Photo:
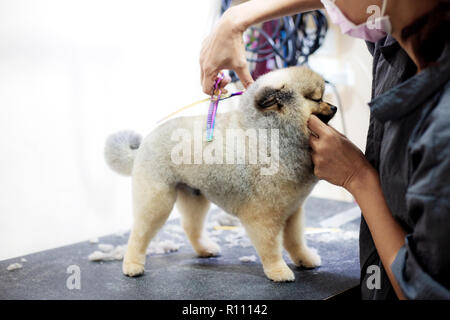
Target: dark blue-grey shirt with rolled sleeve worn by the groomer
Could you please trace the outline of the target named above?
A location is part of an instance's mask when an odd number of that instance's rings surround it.
[[[450,299],[450,45],[417,75],[392,37],[368,48],[374,61],[366,157],[408,234],[391,268],[407,298]],[[360,264],[363,299],[396,298],[363,218]],[[367,286],[371,265],[381,270],[380,289]]]

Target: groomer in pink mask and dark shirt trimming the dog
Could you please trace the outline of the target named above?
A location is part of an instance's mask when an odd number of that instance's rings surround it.
[[[370,6],[380,9],[375,20]],[[373,55],[365,155],[316,116],[309,119],[315,175],[347,189],[362,211],[361,297],[450,299],[450,0],[252,0],[231,7],[203,42],[203,91],[211,94],[222,69],[252,84],[242,37],[249,26],[323,7]],[[375,288],[367,285],[374,267],[381,270]]]

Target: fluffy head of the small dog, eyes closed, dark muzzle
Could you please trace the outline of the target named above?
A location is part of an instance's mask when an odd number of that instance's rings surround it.
[[[325,82],[306,67],[276,70],[260,77],[253,90],[253,106],[265,116],[274,116],[302,125],[311,114],[328,123],[337,108],[322,100]],[[300,124],[299,124],[300,125]]]

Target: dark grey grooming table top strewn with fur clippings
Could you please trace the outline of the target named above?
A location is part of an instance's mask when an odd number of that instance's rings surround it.
[[[305,270],[295,268],[286,252],[295,282],[274,283],[263,272],[259,257],[241,262],[242,256],[257,256],[253,246],[230,247],[223,230],[218,238],[221,255],[198,258],[186,236],[176,252],[147,256],[145,274],[129,278],[122,274],[122,261],[92,262],[88,255],[97,244],[88,241],[42,251],[20,258],[0,261],[0,299],[327,299],[353,291],[359,285],[359,214],[355,204],[310,197],[306,202],[309,246],[322,257],[322,266]],[[209,214],[209,222],[219,209]],[[178,224],[174,219],[167,224]],[[210,223],[211,225],[211,223]],[[99,243],[125,244],[128,234],[110,235]],[[171,239],[161,231],[157,239]],[[23,268],[7,271],[15,262]],[[81,289],[69,290],[67,268],[80,268]]]

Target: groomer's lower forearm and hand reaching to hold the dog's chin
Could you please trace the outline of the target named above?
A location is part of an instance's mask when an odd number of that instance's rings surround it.
[[[355,198],[369,226],[378,255],[389,280],[402,299],[404,295],[392,273],[391,264],[405,244],[406,232],[392,216],[375,169],[345,136],[316,116],[309,119],[314,174],[347,189]]]

